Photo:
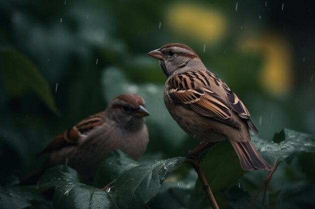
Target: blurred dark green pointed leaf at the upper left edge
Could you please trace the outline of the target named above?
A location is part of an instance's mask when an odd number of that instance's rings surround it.
[[[49,84],[29,58],[5,48],[0,49],[0,61],[9,95],[19,96],[31,89],[53,113],[59,115]]]

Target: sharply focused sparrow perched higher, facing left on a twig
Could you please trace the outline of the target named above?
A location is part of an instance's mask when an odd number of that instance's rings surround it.
[[[228,138],[245,170],[271,169],[251,143],[249,128],[258,130],[249,111],[191,48],[167,44],[148,55],[160,61],[168,77],[164,102],[183,130],[205,143]]]

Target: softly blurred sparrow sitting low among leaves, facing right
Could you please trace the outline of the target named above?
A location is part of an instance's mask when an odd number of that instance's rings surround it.
[[[148,132],[144,100],[136,94],[116,97],[104,112],[97,113],[65,130],[44,155],[53,165],[65,164],[80,173],[94,176],[104,156],[121,149],[138,159],[146,149]]]

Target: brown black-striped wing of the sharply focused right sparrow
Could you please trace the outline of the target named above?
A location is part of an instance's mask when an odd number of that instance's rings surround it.
[[[197,113],[224,122],[233,127],[243,125],[232,117],[236,112],[247,120],[249,128],[257,132],[250,113],[242,101],[213,73],[205,71],[185,72],[173,76],[168,90],[170,98]],[[211,90],[211,85],[222,85],[225,98]]]

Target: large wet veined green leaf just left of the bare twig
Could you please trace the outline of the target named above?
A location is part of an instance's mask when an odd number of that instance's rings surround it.
[[[125,171],[116,181],[114,192],[119,208],[141,208],[161,189],[162,182],[183,162],[184,157],[140,164]]]

